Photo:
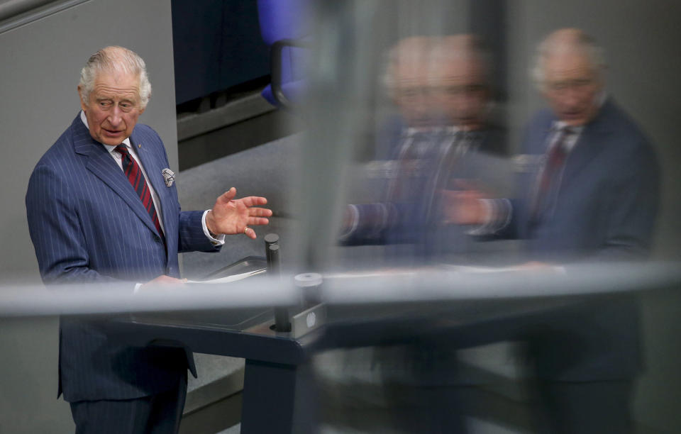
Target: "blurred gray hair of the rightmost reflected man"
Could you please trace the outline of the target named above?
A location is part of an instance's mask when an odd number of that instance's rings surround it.
[[[559,50],[578,50],[584,53],[601,78],[607,69],[604,50],[594,38],[578,29],[556,30],[537,45],[534,66],[530,73],[539,89],[543,89],[546,59]]]

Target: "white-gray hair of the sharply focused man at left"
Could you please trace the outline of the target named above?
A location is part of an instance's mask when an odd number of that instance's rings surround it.
[[[151,83],[147,76],[147,67],[142,57],[136,52],[116,45],[102,48],[87,60],[80,71],[79,86],[81,98],[87,104],[94,81],[100,72],[123,72],[137,75],[140,79],[140,105],[145,109],[151,96]]]

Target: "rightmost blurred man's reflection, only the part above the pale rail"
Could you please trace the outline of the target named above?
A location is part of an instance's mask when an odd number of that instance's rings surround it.
[[[539,45],[533,72],[550,110],[528,125],[519,199],[498,201],[497,235],[528,239],[531,260],[646,257],[658,166],[646,136],[606,94],[602,49],[581,30],[558,30]],[[490,223],[481,201],[455,205],[452,221]]]

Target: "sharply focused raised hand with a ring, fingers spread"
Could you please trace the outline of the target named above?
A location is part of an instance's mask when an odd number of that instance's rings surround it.
[[[260,205],[267,204],[267,199],[260,196],[234,199],[235,196],[236,189],[232,187],[218,197],[213,209],[206,215],[206,226],[215,234],[245,233],[249,238],[255,238],[255,230],[248,226],[270,223],[267,217],[272,216],[272,210],[260,208]]]

